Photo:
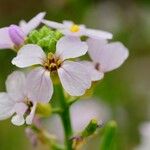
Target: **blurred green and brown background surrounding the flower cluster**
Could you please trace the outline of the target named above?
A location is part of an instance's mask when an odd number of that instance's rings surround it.
[[[73,20],[110,31],[128,47],[130,57],[98,83],[94,97],[118,123],[116,150],[132,150],[141,142],[139,127],[150,120],[150,1],[149,0],[0,0],[0,27],[29,20],[46,11],[47,19]],[[10,50],[0,51],[0,90],[15,68]],[[0,150],[31,149],[24,127],[0,122]],[[97,146],[92,147],[97,150]],[[145,149],[142,149],[145,150]]]

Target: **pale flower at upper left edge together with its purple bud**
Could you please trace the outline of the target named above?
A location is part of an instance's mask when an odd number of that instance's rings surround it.
[[[10,48],[15,49],[20,47],[26,36],[36,28],[42,21],[45,13],[39,13],[32,18],[28,23],[22,20],[18,25],[10,25],[0,29],[0,49]]]

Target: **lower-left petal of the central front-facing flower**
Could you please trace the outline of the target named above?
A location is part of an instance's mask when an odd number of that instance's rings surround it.
[[[27,90],[31,101],[48,103],[53,94],[50,73],[42,67],[32,70],[27,75]]]

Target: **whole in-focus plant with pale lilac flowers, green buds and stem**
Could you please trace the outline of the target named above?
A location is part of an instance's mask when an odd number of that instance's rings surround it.
[[[0,93],[0,120],[12,116],[14,125],[25,124],[27,133],[32,135],[30,138],[33,134],[41,135],[38,140],[42,138],[52,149],[77,149],[100,124],[91,118],[85,129],[75,136],[70,106],[85,96],[106,72],[120,67],[128,57],[128,50],[120,42],[109,42],[112,39],[109,32],[88,29],[70,21],[62,24],[48,21],[44,16],[45,13],[39,13],[29,22],[21,21],[19,26],[0,29],[0,48],[16,52],[13,65],[29,68],[8,76],[7,92]],[[45,25],[36,29],[41,23]],[[61,118],[64,145],[59,145],[41,127],[41,119],[53,113]],[[110,122],[107,126],[113,130],[116,124]],[[103,143],[107,143],[107,136],[106,129]]]

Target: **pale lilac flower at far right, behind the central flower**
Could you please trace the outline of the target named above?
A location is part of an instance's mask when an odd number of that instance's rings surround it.
[[[92,61],[83,61],[88,66],[92,81],[103,78],[104,73],[120,67],[127,59],[128,49],[120,42],[108,43],[107,40],[95,40],[89,38],[88,53]]]

